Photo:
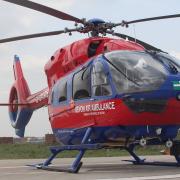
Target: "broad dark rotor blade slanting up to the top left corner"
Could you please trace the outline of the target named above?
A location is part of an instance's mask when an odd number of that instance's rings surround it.
[[[74,16],[71,16],[64,12],[58,11],[56,9],[53,9],[53,8],[50,8],[50,7],[47,7],[47,6],[32,2],[32,1],[28,1],[28,0],[3,0],[3,1],[17,4],[19,6],[23,6],[29,9],[33,9],[33,10],[57,17],[62,20],[74,21],[74,22],[82,23],[82,24],[84,23],[83,20],[78,19]]]

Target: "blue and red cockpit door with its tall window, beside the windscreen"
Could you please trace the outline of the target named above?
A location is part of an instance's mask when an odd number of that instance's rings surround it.
[[[115,111],[114,90],[106,65],[104,61],[95,61],[91,73],[92,116],[97,126],[109,126]]]

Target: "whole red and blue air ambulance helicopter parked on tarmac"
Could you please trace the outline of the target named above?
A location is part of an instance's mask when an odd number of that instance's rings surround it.
[[[4,0],[50,16],[75,22],[74,28],[0,39],[0,43],[73,32],[90,37],[58,49],[45,65],[48,87],[31,94],[20,58],[14,56],[14,79],[9,95],[10,122],[16,135],[24,137],[33,112],[48,107],[52,131],[60,146],[52,155],[32,165],[42,170],[77,173],[87,150],[124,149],[134,164],[180,166],[180,61],[163,50],[114,28],[180,14],[120,23],[94,18],[79,19],[50,7],[24,0]],[[113,35],[118,38],[107,37]],[[122,144],[123,139],[123,144]],[[146,162],[136,146],[165,145],[176,163]],[[62,151],[77,150],[69,168],[49,166]]]

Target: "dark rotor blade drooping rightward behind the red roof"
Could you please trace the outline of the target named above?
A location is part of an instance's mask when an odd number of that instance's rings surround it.
[[[108,32],[109,33],[109,32]],[[133,42],[136,42],[140,45],[142,45],[146,50],[152,50],[152,51],[162,51],[161,49],[158,49],[148,43],[145,43],[139,39],[136,39],[136,38],[133,38],[131,36],[128,36],[128,35],[125,35],[125,34],[120,34],[120,33],[109,33],[109,34],[112,34],[114,36],[117,36],[117,37],[120,37],[120,38],[123,38],[123,39],[127,39],[130,40],[130,41],[133,41]]]

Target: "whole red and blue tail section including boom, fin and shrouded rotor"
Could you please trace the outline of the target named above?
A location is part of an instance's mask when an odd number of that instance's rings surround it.
[[[20,59],[14,57],[15,82],[10,90],[9,103],[0,106],[9,106],[9,117],[15,133],[24,137],[25,127],[29,123],[33,111],[48,105],[49,89],[45,88],[35,94],[31,94],[28,84],[24,78]]]

